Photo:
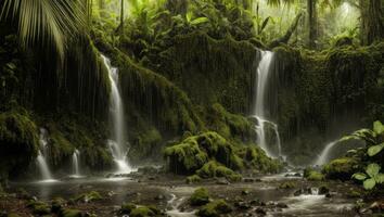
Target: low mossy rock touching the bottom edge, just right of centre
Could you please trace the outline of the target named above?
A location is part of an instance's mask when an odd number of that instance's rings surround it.
[[[232,207],[223,200],[217,200],[201,207],[197,212],[197,216],[201,217],[219,217],[223,214],[232,212]]]

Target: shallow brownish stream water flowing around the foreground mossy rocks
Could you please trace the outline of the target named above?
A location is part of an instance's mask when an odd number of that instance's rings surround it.
[[[318,194],[319,184],[308,182],[300,177],[279,174],[257,177],[254,182],[222,184],[215,180],[201,184],[185,184],[181,177],[144,176],[138,178],[78,178],[56,182],[13,182],[11,188],[25,189],[42,201],[54,197],[69,200],[80,193],[98,191],[103,200],[93,207],[100,216],[116,212],[125,202],[143,205],[156,205],[168,216],[195,216],[195,207],[188,205],[188,199],[200,187],[208,189],[214,199],[225,199],[229,204],[261,202],[266,216],[355,216],[354,199],[343,194],[353,186],[342,182],[329,182],[331,197]],[[284,182],[295,183],[292,189],[279,189]],[[296,195],[298,189],[311,189],[311,192]],[[246,190],[246,194],[244,194]],[[89,205],[84,204],[85,209]],[[239,216],[256,214],[256,207],[236,207]],[[77,207],[81,209],[80,207]],[[92,209],[92,210],[93,210]],[[238,213],[238,212],[236,212]],[[238,215],[235,215],[238,216]]]

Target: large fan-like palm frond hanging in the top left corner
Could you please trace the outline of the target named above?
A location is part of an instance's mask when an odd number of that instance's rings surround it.
[[[86,26],[80,8],[66,0],[3,0],[0,18],[17,21],[22,46],[52,46],[63,59],[67,39]]]

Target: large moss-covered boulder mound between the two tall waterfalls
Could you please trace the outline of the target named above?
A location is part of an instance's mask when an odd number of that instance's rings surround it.
[[[181,143],[166,148],[164,155],[168,169],[175,174],[196,173],[201,178],[226,177],[231,181],[242,179],[233,170],[253,168],[260,173],[277,173],[282,167],[259,148],[232,144],[214,131],[188,137]]]

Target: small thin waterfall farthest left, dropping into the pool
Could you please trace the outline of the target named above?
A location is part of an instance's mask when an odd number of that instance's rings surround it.
[[[39,135],[39,144],[40,150],[37,155],[37,166],[40,170],[42,181],[53,181],[51,171],[48,167],[46,157],[48,156],[48,139],[47,139],[47,130],[44,128],[40,128]],[[41,152],[42,151],[42,152]]]

